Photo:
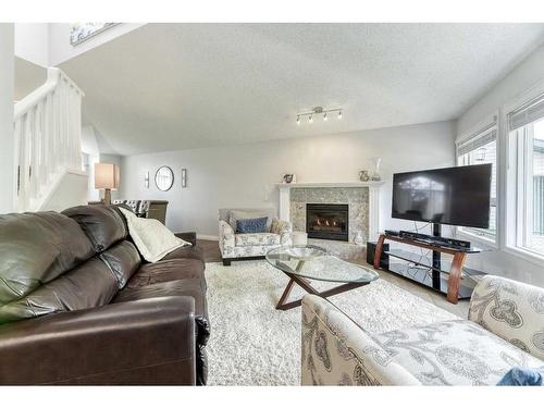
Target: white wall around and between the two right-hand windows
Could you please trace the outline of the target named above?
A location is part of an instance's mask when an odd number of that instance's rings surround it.
[[[500,83],[482,97],[472,108],[457,121],[457,133],[469,132],[478,126],[485,118],[517,99],[520,95],[532,88],[535,84],[544,81],[544,46],[529,55],[516,69],[514,69]],[[504,128],[504,127],[502,127]],[[500,147],[503,148],[502,163],[499,169],[499,197],[504,194],[505,180],[505,140],[506,135],[502,131],[499,135]],[[504,199],[504,196],[503,196]],[[499,201],[499,223],[504,225],[504,207]],[[499,224],[500,226],[500,224]],[[504,238],[502,239],[504,243]],[[544,286],[544,264],[539,261],[528,261],[516,255],[507,254],[504,250],[493,249],[481,245],[489,251],[478,256],[468,257],[468,265],[487,273],[508,276],[515,280],[533,283]]]

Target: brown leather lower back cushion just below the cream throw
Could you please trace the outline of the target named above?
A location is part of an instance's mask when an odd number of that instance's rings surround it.
[[[139,254],[133,243],[123,240],[100,254],[100,259],[106,262],[122,289],[141,263]]]

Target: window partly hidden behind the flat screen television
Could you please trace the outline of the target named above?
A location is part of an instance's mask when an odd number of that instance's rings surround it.
[[[497,236],[497,124],[493,123],[482,129],[461,138],[457,143],[457,165],[492,164],[490,227],[461,227],[460,231],[474,234],[487,240],[496,242]]]

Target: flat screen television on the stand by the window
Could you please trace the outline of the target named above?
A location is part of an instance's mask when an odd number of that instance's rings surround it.
[[[394,174],[392,217],[487,228],[491,168],[477,164]]]

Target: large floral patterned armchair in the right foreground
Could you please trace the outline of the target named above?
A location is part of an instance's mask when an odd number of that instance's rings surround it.
[[[370,334],[327,300],[302,300],[306,385],[494,385],[544,366],[544,289],[485,276],[469,320]]]

